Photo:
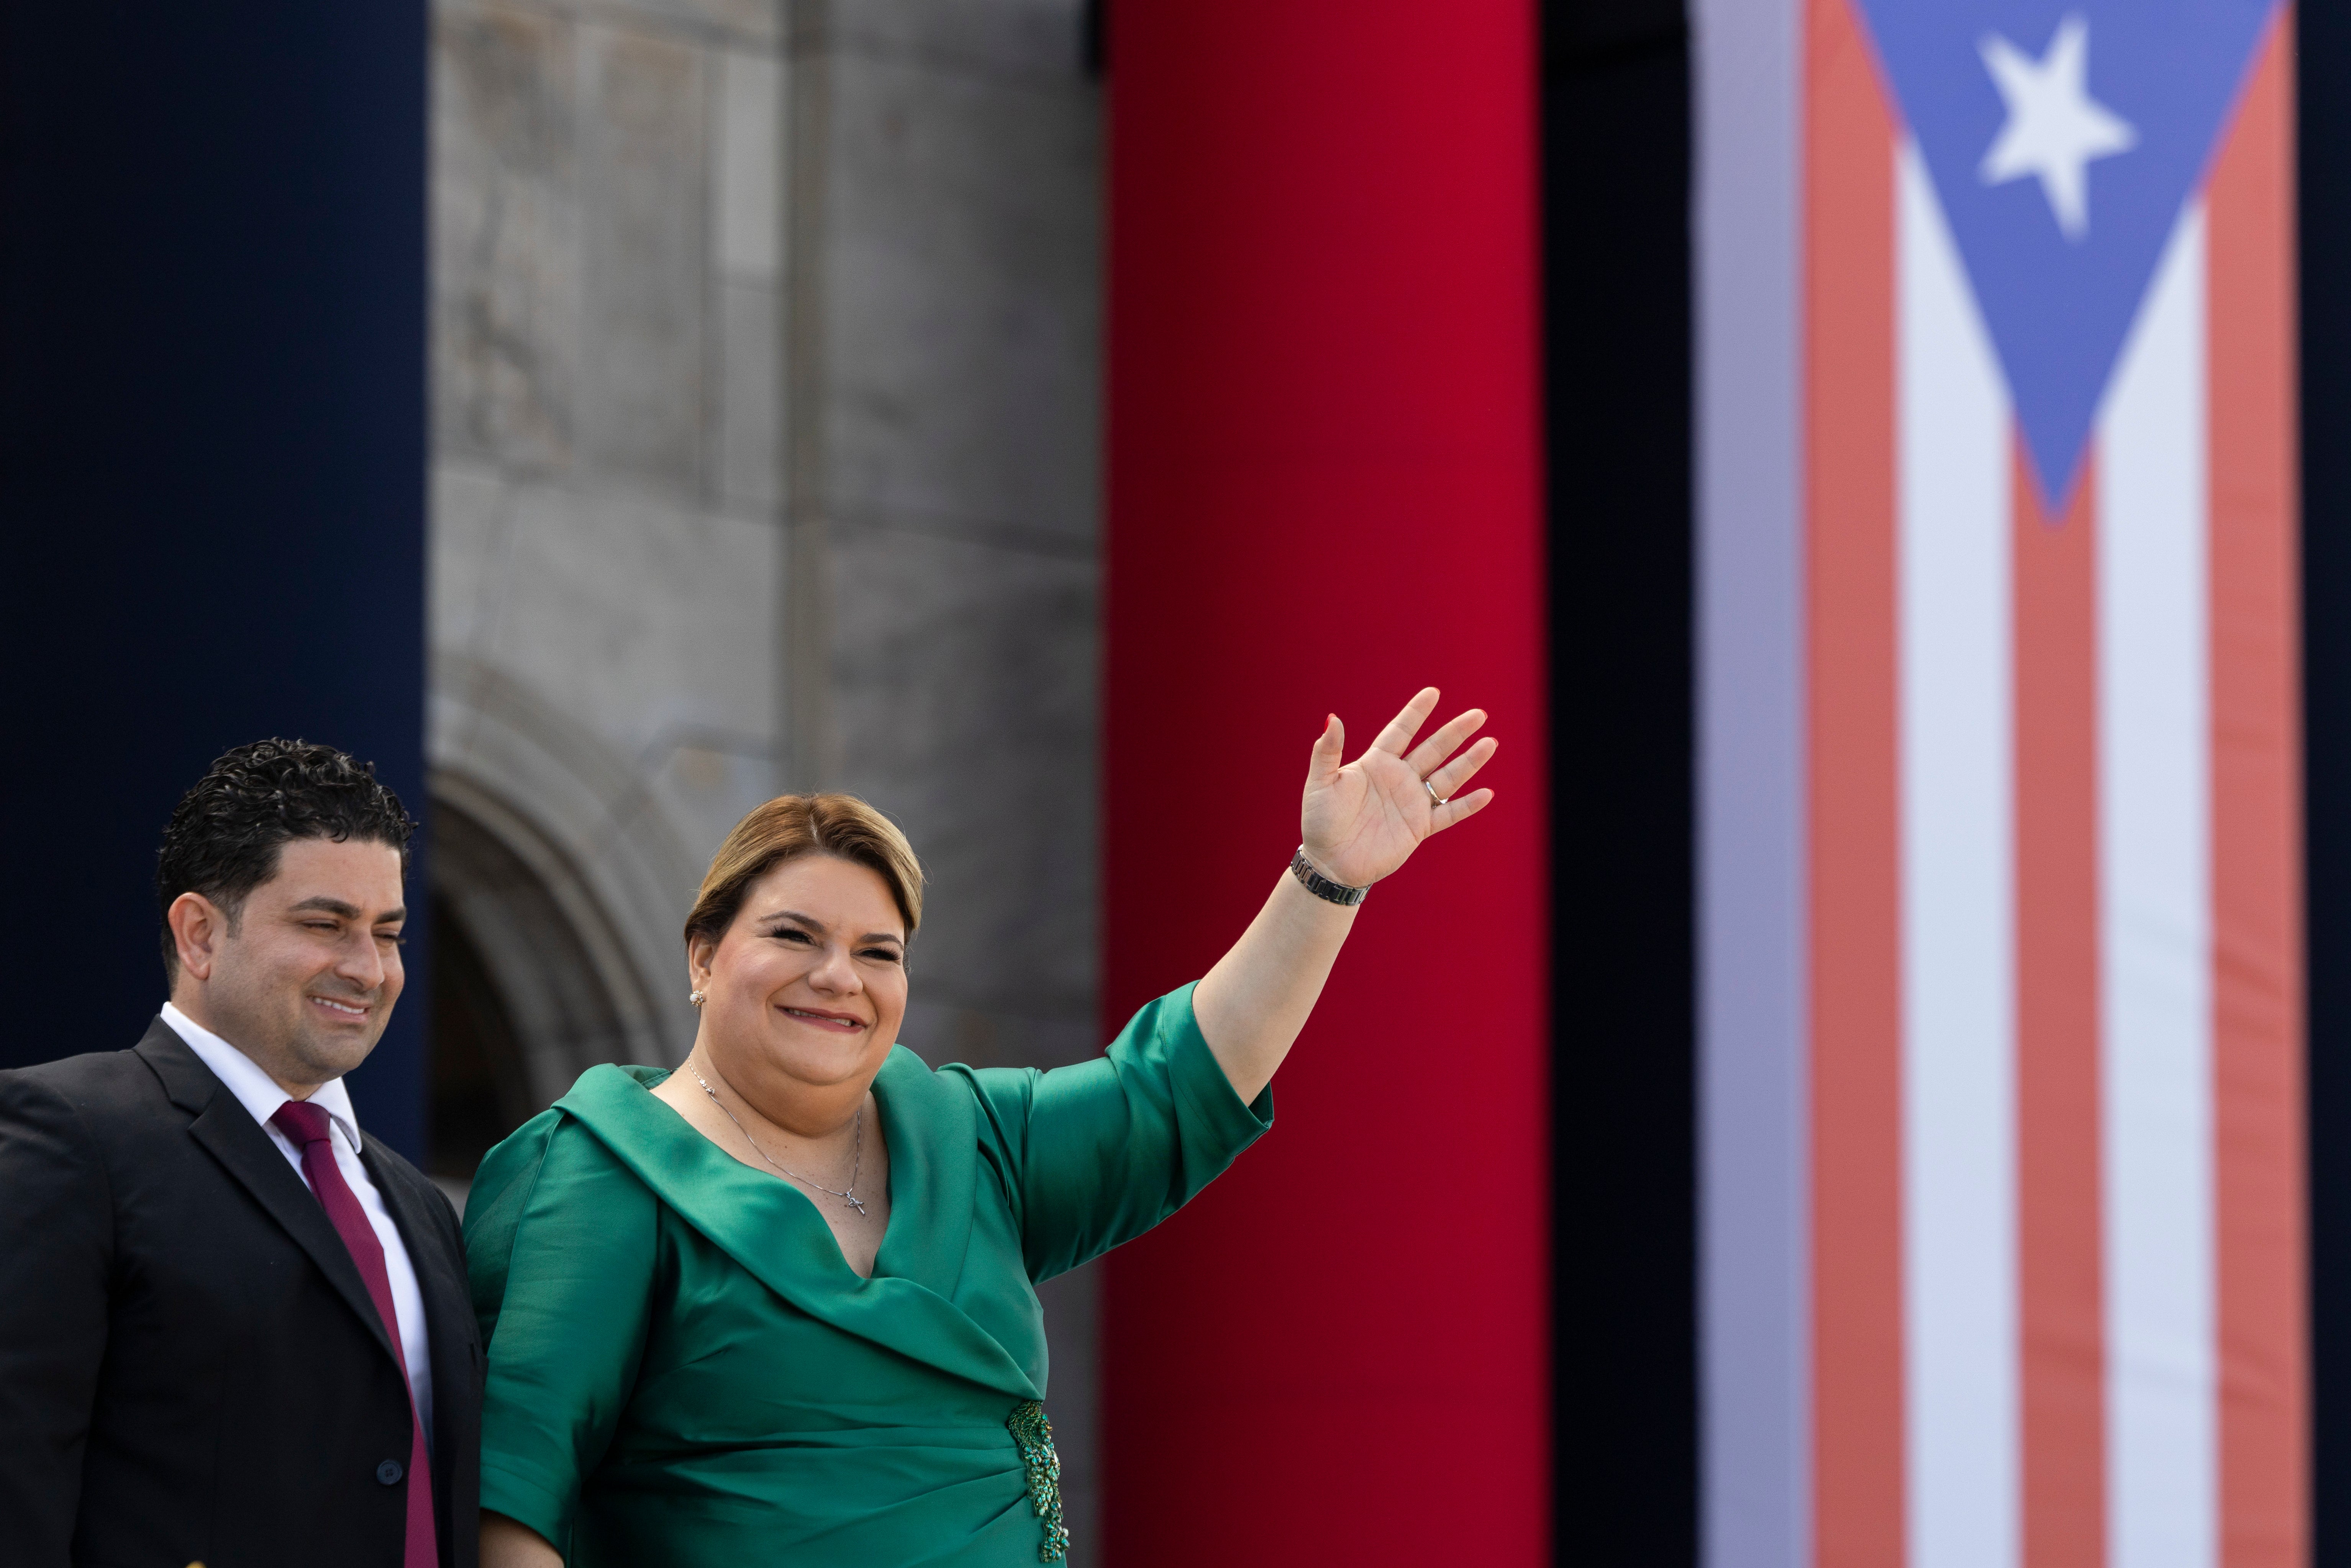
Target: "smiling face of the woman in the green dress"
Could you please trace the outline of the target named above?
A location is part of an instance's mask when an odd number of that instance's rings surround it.
[[[771,867],[686,954],[701,1046],[762,1114],[863,1095],[905,1018],[905,917],[882,877],[813,853]],[[809,1107],[813,1110],[813,1105]]]

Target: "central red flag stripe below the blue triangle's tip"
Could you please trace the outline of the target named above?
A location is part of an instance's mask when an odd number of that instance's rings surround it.
[[[2024,1568],[2106,1561],[2097,468],[2050,520],[2015,447],[2017,1331]]]

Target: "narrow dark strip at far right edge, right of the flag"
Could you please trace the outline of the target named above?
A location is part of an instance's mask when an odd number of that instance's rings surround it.
[[[2316,1552],[2351,1563],[2351,14],[2299,5]]]

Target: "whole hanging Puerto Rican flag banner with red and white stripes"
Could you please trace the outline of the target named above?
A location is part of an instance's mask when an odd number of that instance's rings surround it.
[[[2292,16],[1697,35],[1707,1561],[2306,1563]]]

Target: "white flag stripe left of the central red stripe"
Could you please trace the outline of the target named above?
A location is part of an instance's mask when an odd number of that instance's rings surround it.
[[[1918,150],[1895,219],[1909,1568],[2017,1561],[2010,416]]]

